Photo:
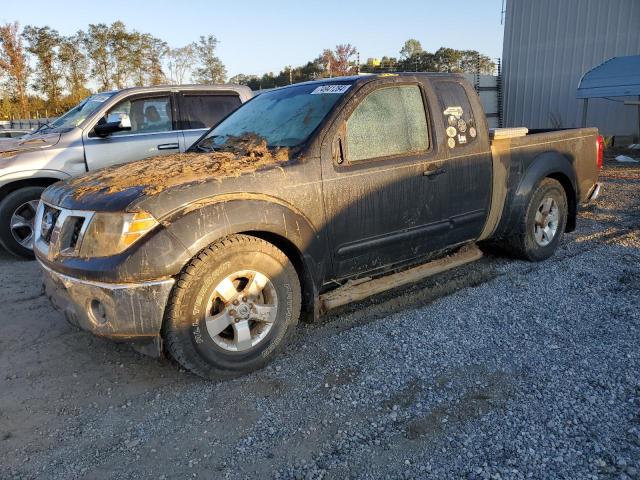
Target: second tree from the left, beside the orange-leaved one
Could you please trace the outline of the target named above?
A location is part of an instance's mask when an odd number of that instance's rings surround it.
[[[32,25],[24,27],[22,36],[27,41],[27,51],[37,60],[33,88],[45,96],[49,107],[55,108],[61,91],[58,49],[62,38],[56,30]]]

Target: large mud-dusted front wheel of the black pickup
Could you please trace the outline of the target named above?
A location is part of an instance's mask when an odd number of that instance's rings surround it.
[[[180,274],[165,314],[166,349],[201,377],[243,375],[282,349],[300,305],[300,281],[287,256],[265,240],[232,235],[204,249]]]

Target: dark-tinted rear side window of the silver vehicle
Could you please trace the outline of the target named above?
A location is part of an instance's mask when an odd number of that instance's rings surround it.
[[[237,95],[182,95],[182,128],[211,128],[240,106]]]

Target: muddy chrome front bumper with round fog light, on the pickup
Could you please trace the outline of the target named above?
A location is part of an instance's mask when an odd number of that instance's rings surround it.
[[[102,283],[55,272],[40,262],[44,288],[69,323],[115,340],[157,340],[175,280]]]

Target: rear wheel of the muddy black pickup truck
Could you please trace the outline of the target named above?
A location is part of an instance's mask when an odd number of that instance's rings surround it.
[[[557,209],[555,216],[554,208]],[[543,179],[529,199],[517,233],[507,239],[507,250],[531,262],[549,258],[555,253],[564,235],[567,212],[567,196],[560,182],[552,178]]]

